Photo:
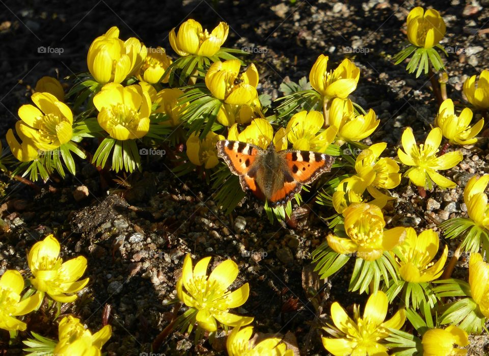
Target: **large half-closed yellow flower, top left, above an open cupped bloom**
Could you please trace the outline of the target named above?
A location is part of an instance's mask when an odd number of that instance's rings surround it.
[[[119,39],[119,29],[110,28],[97,37],[88,49],[88,70],[98,83],[121,83],[139,70],[146,58],[146,47],[136,38]]]

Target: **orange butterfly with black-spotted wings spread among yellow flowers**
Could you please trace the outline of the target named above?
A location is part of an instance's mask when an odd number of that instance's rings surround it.
[[[231,173],[239,176],[243,191],[251,190],[273,207],[286,204],[324,172],[329,172],[335,159],[312,151],[277,151],[273,143],[266,150],[239,141],[216,143],[218,156]]]

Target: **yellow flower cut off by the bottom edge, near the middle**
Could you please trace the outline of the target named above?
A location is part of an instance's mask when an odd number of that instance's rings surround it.
[[[267,338],[256,345],[251,341],[253,326],[233,328],[226,341],[229,356],[282,356],[286,354],[287,346],[280,338]],[[290,351],[290,350],[287,350]],[[291,354],[293,355],[293,353]]]

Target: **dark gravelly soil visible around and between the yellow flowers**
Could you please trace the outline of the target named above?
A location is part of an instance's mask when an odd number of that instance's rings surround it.
[[[273,99],[281,95],[282,81],[307,76],[318,54],[328,54],[336,63],[350,58],[361,68],[352,99],[373,108],[381,119],[370,139],[387,142],[391,156],[395,156],[405,126],[411,126],[416,138],[422,139],[437,112],[427,79],[416,79],[392,61],[398,43],[405,40],[402,26],[413,6],[440,10],[447,23],[442,44],[461,49],[458,54],[449,53],[447,59],[448,95],[456,103],[464,102],[460,91],[464,80],[489,67],[487,35],[474,31],[489,27],[489,2],[482,0],[453,0],[450,4],[233,1],[219,2],[215,8],[206,0],[2,4],[2,137],[17,120],[18,107],[29,102],[37,79],[85,71],[88,46],[112,25],[121,28],[122,38],[137,36],[148,46],[170,50],[167,34],[181,20],[195,18],[204,28],[224,20],[231,27],[226,45],[253,48],[259,92]],[[63,48],[63,53],[39,53],[39,46]],[[437,229],[448,218],[466,216],[465,184],[474,174],[489,173],[487,139],[465,147],[463,153],[464,160],[446,171],[459,184],[455,189],[435,189],[421,198],[403,180],[393,191],[396,199],[385,210],[388,227]],[[39,183],[39,191],[1,177],[0,211],[8,227],[0,235],[0,273],[6,268],[27,269],[25,252],[50,232],[62,242],[64,258],[87,256],[89,287],[64,313],[76,313],[95,331],[104,305],[110,305],[113,337],[105,350],[111,355],[150,352],[152,340],[171,320],[171,306],[165,302],[176,295],[176,279],[187,252],[198,258],[214,256],[214,265],[232,258],[240,270],[233,287],[245,282],[251,287],[250,298],[239,312],[255,317],[256,331],[286,335],[302,354],[324,354],[316,326],[326,319],[316,313],[313,305],[317,301],[310,299],[309,286],[322,288],[319,303],[327,311],[335,300],[344,306],[365,300],[347,292],[350,265],[328,281],[311,272],[311,252],[328,233],[320,217],[332,214],[317,204],[297,208],[289,226],[270,224],[254,199],[245,200],[232,216],[224,215],[214,204],[210,187],[191,175],[177,178],[169,170],[172,163],[167,157],[146,165],[144,174],[127,177],[130,188],[107,183],[86,162],[79,162],[77,168],[76,177]],[[308,196],[305,198],[307,201]],[[442,240],[455,250],[454,241],[443,235]],[[454,273],[466,278],[464,261]],[[55,324],[42,315],[34,315],[29,328],[46,336],[56,333]],[[0,350],[20,354],[21,345],[9,349],[7,337],[0,333]],[[220,354],[224,348],[223,335],[212,345],[206,342],[194,347],[193,336],[173,333],[161,352]],[[486,335],[471,339],[469,354],[488,352]]]

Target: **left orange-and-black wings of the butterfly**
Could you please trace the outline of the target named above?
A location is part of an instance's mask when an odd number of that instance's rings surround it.
[[[243,191],[251,190],[259,199],[265,196],[256,182],[257,163],[264,150],[239,141],[222,140],[216,144],[218,156],[223,158],[231,173],[239,176]]]

